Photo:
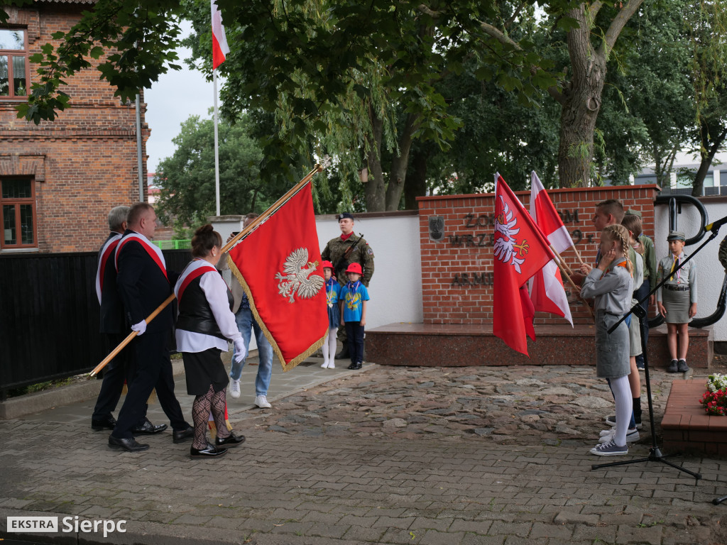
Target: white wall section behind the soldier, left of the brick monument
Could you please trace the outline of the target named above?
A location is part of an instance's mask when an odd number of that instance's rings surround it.
[[[321,251],[340,236],[332,216],[316,217]],[[369,285],[366,329],[387,323],[424,320],[422,307],[422,253],[419,249],[419,216],[358,217],[353,225],[374,251],[374,276]]]

